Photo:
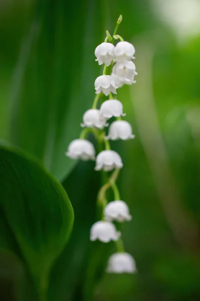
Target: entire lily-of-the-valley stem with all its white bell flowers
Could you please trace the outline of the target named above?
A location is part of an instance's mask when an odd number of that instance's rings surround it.
[[[117,26],[121,22],[121,16],[117,21]],[[115,29],[116,32],[116,29]],[[107,272],[114,273],[133,273],[136,271],[135,262],[132,256],[123,251],[121,233],[117,231],[112,222],[130,221],[131,215],[126,203],[120,200],[119,191],[115,184],[119,170],[123,163],[119,154],[110,149],[109,140],[128,140],[134,138],[132,127],[129,122],[122,120],[125,116],[123,105],[113,99],[112,94],[116,94],[116,89],[123,84],[134,83],[135,65],[131,61],[134,57],[135,49],[133,45],[123,41],[118,35],[111,37],[108,32],[105,42],[98,45],[95,49],[96,61],[99,65],[104,64],[103,74],[96,78],[94,88],[96,96],[92,108],[83,114],[83,120],[80,124],[83,130],[79,139],[71,141],[66,152],[66,156],[71,159],[95,160],[95,171],[110,172],[111,174],[107,183],[100,188],[97,196],[97,202],[102,206],[102,220],[95,222],[90,229],[90,240],[99,240],[104,243],[115,241],[118,252],[111,255],[108,260]],[[114,40],[120,39],[120,42],[113,45]],[[109,42],[108,42],[109,40]],[[112,71],[108,73],[108,66],[111,65]],[[110,68],[109,68],[110,69]],[[109,95],[109,99],[105,96]],[[98,106],[98,101],[101,105]],[[114,117],[116,120],[109,124],[109,119]],[[109,125],[107,134],[105,127]],[[85,139],[88,132],[92,132],[104,150],[101,150],[97,156],[93,144]],[[107,202],[106,190],[113,190],[114,201]]]

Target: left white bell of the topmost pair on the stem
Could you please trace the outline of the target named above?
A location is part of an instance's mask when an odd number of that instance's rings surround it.
[[[98,65],[104,63],[106,66],[109,66],[114,56],[114,45],[103,42],[96,47],[94,54]]]

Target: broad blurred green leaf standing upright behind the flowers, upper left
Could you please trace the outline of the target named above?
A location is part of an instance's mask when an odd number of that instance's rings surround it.
[[[101,41],[100,16],[88,10],[86,0],[38,1],[32,15],[9,87],[9,139],[62,180],[74,166],[64,153],[79,136],[82,114],[95,95],[99,69],[93,52]]]

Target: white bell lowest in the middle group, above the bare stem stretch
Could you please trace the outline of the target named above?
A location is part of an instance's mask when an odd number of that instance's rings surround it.
[[[102,150],[96,156],[95,171],[104,170],[109,172],[114,168],[121,169],[122,167],[121,157],[114,150]]]

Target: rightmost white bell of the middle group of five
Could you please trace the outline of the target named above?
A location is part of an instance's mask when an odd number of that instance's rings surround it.
[[[109,126],[108,135],[105,139],[110,140],[128,140],[133,139],[132,127],[129,122],[125,120],[116,120]]]

